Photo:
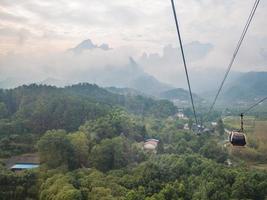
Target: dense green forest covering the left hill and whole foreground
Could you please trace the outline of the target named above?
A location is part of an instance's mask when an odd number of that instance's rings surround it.
[[[197,135],[190,110],[179,119],[167,100],[90,84],[34,84],[1,90],[0,113],[1,200],[267,197],[267,172],[247,167],[220,143],[222,119]],[[159,140],[156,151],[144,150],[148,138]],[[14,173],[5,166],[10,156],[36,152],[39,168]]]

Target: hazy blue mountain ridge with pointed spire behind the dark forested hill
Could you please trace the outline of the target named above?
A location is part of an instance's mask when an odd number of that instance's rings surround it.
[[[42,81],[35,81],[37,84],[57,87],[64,87],[78,82],[95,83],[102,87],[131,88],[149,96],[158,96],[161,92],[173,88],[145,73],[131,57],[129,58],[128,64],[124,67],[113,68],[107,66],[104,70],[93,70],[85,73],[83,81],[62,80],[53,77],[48,77]],[[20,77],[13,77],[0,82],[0,88],[15,88],[23,84],[31,83],[33,82],[26,81]]]

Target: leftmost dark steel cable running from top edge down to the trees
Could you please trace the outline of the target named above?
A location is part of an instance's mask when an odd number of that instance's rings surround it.
[[[187,64],[186,64],[185,55],[184,55],[182,38],[181,38],[180,30],[179,30],[179,23],[178,23],[177,14],[176,14],[175,5],[174,5],[174,0],[171,0],[171,3],[172,3],[172,10],[173,10],[173,15],[174,15],[174,20],[175,20],[175,25],[176,25],[176,30],[177,30],[177,36],[178,36],[178,39],[179,39],[179,44],[180,44],[182,58],[183,58],[183,64],[184,64],[184,69],[185,69],[188,89],[189,89],[189,93],[190,93],[192,109],[193,109],[193,112],[194,112],[195,122],[196,122],[196,124],[198,124],[196,110],[195,110],[195,104],[194,104],[194,99],[193,99],[193,95],[192,95],[192,90],[191,90],[191,85],[190,85],[190,80],[189,80],[189,75],[188,75],[188,70],[187,70]]]

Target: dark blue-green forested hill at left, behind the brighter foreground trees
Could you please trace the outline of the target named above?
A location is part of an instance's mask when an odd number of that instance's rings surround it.
[[[154,117],[176,112],[169,101],[114,94],[88,83],[65,88],[32,84],[0,90],[0,136],[43,133],[50,129],[73,131],[86,120],[104,116],[114,107]]]

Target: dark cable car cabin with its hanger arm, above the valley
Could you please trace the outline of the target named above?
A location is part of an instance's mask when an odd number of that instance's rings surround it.
[[[229,142],[233,146],[245,146],[247,144],[246,136],[243,133],[243,113],[241,116],[241,129],[240,131],[232,131],[229,135]]]

